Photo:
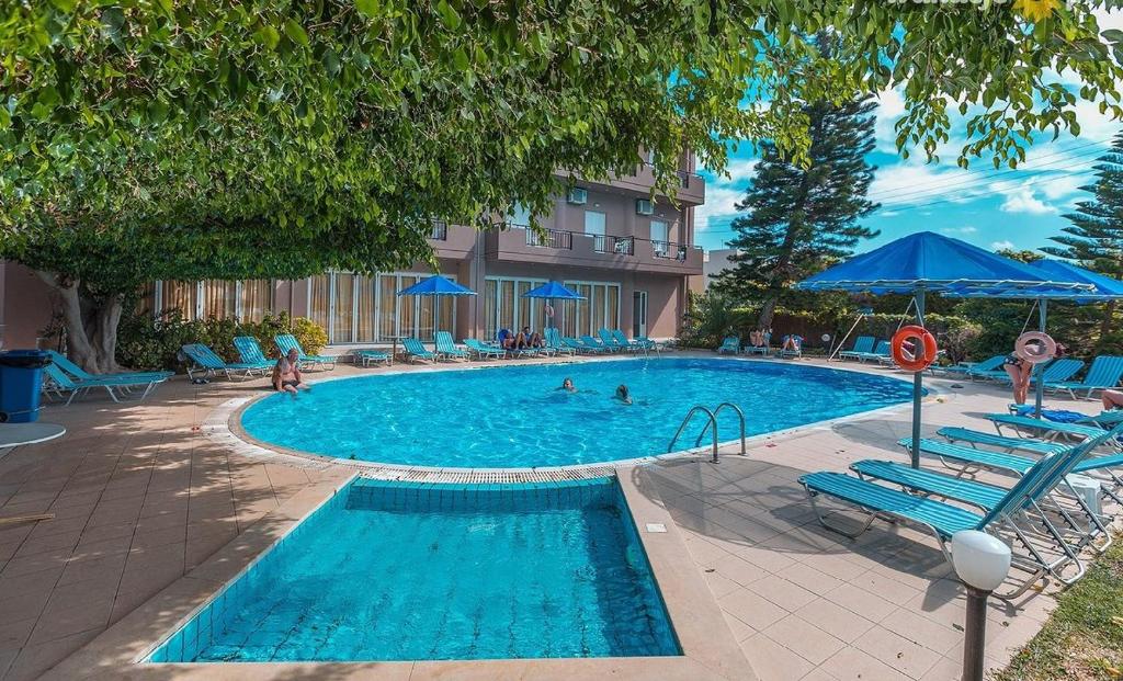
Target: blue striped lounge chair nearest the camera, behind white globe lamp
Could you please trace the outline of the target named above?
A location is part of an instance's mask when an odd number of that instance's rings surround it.
[[[1053,452],[1043,456],[1034,462],[1032,467],[1001,498],[990,500],[988,502],[989,510],[982,512],[948,501],[917,497],[909,491],[837,472],[809,473],[800,478],[800,483],[806,491],[807,499],[819,517],[819,521],[824,527],[850,537],[857,537],[865,533],[878,517],[915,524],[933,534],[949,563],[951,555],[948,551],[948,542],[957,532],[974,529],[992,534],[998,532],[1013,534],[1019,544],[1025,547],[1026,553],[1019,552],[1014,556],[1012,565],[1029,573],[1029,576],[1022,580],[1012,592],[997,594],[999,598],[1010,599],[1021,596],[1038,581],[1049,575],[1066,581],[1071,580],[1072,578],[1061,576],[1061,571],[1068,565],[1076,564],[1077,570],[1083,571],[1079,557],[1074,555],[1067,543],[1062,539],[1057,542],[1058,548],[1061,550],[1060,555],[1046,556],[1038,550],[1039,545],[1034,543],[1034,539],[1028,536],[1029,528],[1023,527],[1020,523],[1022,523],[1023,515],[1034,511],[1039,501],[1050,493],[1066,474],[1072,471],[1087,452],[1111,436],[1111,433],[1105,432],[1099,438],[1090,439],[1080,447]],[[856,530],[829,523],[827,518],[833,511],[824,512],[818,503],[818,500],[824,497],[832,498],[865,514],[865,521],[859,524]],[[1057,539],[1057,537],[1053,538]]]

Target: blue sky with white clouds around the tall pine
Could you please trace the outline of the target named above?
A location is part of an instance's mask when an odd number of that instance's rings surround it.
[[[1099,29],[1123,28],[1123,11],[1099,15]],[[1075,79],[1059,80],[1071,84]],[[1026,149],[1017,170],[994,170],[988,157],[975,158],[968,170],[956,165],[966,139],[966,119],[955,116],[951,140],[939,151],[939,163],[925,163],[922,149],[911,158],[897,154],[893,125],[904,112],[898,91],[882,92],[876,110],[877,146],[867,157],[877,166],[868,198],[880,208],[861,224],[880,230],[862,242],[857,252],[868,251],[914,231],[931,230],[961,238],[992,249],[1035,249],[1047,246],[1050,236],[1070,223],[1063,218],[1079,200],[1090,197],[1080,187],[1095,181],[1092,166],[1123,130],[1123,121],[1111,120],[1097,105],[1078,100],[1080,135],[1062,133],[1052,142],[1051,131]],[[970,114],[970,112],[968,112]],[[743,197],[756,160],[749,144],[731,153],[729,178],[703,169],[705,205],[695,210],[694,240],[706,249],[724,248],[733,236],[729,223],[737,217],[734,205]]]

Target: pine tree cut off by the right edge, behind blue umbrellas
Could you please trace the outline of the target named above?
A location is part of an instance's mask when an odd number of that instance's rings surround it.
[[[1093,194],[1077,201],[1076,212],[1065,216],[1070,226],[1050,240],[1060,246],[1042,248],[1050,255],[1077,261],[1081,267],[1123,279],[1123,131],[1117,133],[1106,154],[1094,166],[1096,183],[1080,189]],[[1104,306],[1099,327],[1103,339],[1112,330],[1115,303]]]

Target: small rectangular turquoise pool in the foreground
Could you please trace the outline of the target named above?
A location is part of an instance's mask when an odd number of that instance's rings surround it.
[[[678,654],[614,479],[357,480],[148,661]]]

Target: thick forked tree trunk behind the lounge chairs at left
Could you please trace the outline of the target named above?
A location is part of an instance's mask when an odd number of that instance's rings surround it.
[[[53,272],[37,272],[39,279],[57,291],[66,327],[66,354],[90,373],[117,371],[117,324],[121,319],[121,296],[93,300],[83,298],[77,280]]]

